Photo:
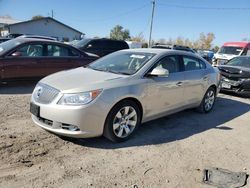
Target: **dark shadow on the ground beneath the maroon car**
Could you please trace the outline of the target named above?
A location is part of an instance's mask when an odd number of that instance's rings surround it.
[[[0,95],[31,94],[37,81],[18,81],[0,85]]]

